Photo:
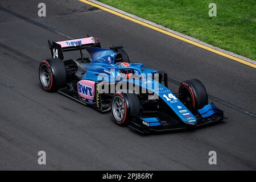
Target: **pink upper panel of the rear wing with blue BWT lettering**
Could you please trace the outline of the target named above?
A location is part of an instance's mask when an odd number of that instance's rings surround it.
[[[71,47],[71,46],[79,46],[79,43],[81,45],[97,44],[97,43],[100,43],[100,39],[97,39],[97,38],[94,38],[93,36],[91,36],[89,38],[63,40],[63,41],[59,41],[56,43],[60,44],[61,48],[65,48],[65,47]]]

